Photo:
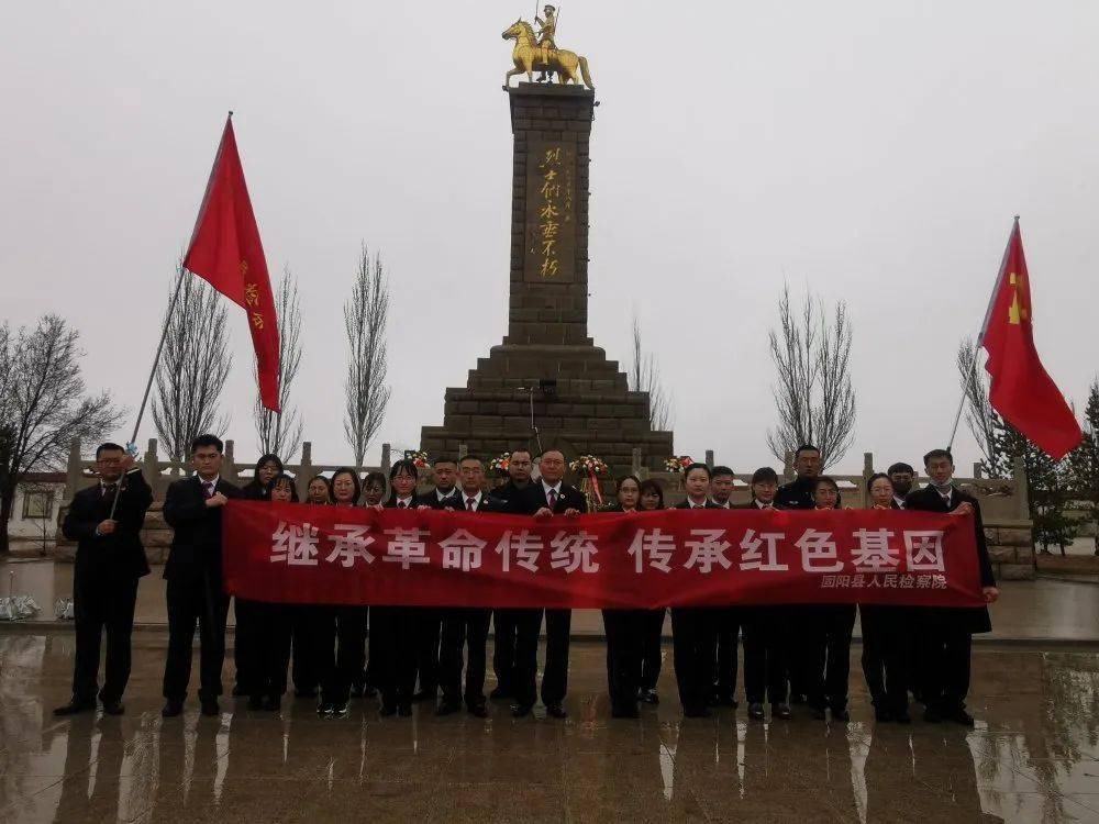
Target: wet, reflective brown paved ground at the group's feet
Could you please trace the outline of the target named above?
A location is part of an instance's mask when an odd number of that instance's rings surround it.
[[[121,719],[55,720],[65,631],[0,635],[0,821],[1099,821],[1099,653],[983,648],[976,730],[875,726],[853,661],[853,721],[684,722],[665,702],[612,721],[604,649],[574,645],[565,722],[321,721],[222,702],[159,716],[164,636],[137,636]],[[226,666],[231,676],[232,665]],[[231,680],[231,679],[230,679]],[[489,684],[491,687],[492,684]]]

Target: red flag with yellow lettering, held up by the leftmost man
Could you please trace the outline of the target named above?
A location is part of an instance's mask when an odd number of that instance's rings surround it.
[[[247,312],[259,398],[267,409],[278,412],[278,316],[259,227],[236,151],[232,112],[225,121],[184,268]]]

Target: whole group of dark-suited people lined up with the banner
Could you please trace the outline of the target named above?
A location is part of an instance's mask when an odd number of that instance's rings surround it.
[[[164,517],[174,528],[164,568],[167,582],[168,652],[164,668],[162,714],[182,712],[190,681],[196,628],[199,634],[201,711],[221,708],[225,624],[230,597],[222,586],[221,513],[231,499],[297,502],[296,479],[281,460],[265,455],[252,481],[236,487],[221,477],[222,442],[195,439],[195,475],[170,485]],[[74,498],[63,523],[77,541],[74,577],[76,661],[73,698],[55,710],[68,715],[95,710],[97,699],[109,714],[124,712],[130,676],[137,581],[149,572],[141,530],[153,494],[134,459],[116,444],[96,452],[99,479]],[[437,457],[434,487],[417,492],[421,470],[398,460],[388,478],[365,479],[351,467],[311,478],[304,503],[331,506],[462,510],[512,513],[535,519],[574,516],[587,511],[586,497],[564,482],[565,456],[548,449],[510,455],[508,479],[486,486],[486,467],[475,456]],[[744,508],[835,509],[835,481],[822,475],[820,450],[802,446],[795,456],[797,477],[779,485],[774,469],[755,471]],[[977,501],[953,483],[954,463],[945,449],[924,456],[930,483],[914,488],[915,472],[895,464],[867,481],[876,509],[972,513],[987,602],[998,597],[985,545]],[[388,482],[387,482],[388,481]],[[692,464],[684,472],[686,499],[678,509],[735,508],[733,472],[726,467]],[[611,512],[659,510],[665,490],[653,479],[619,478]],[[229,548],[231,550],[231,548]],[[852,632],[856,610],[863,631],[862,668],[875,717],[908,723],[909,693],[924,705],[923,717],[972,725],[965,709],[974,633],[991,628],[987,608],[911,608],[870,604],[774,604],[713,608],[673,606],[673,661],[684,715],[704,717],[713,708],[735,708],[737,649],[743,639],[743,690],[753,720],[792,716],[791,704],[808,706],[813,717],[848,719]],[[665,609],[603,610],[607,676],[615,717],[636,717],[640,704],[659,701],[660,639]],[[353,698],[380,698],[382,715],[412,714],[417,701],[436,702],[435,714],[466,711],[488,715],[488,700],[509,701],[515,717],[530,715],[541,697],[547,716],[566,717],[571,612],[558,609],[332,606],[235,600],[234,697],[248,709],[278,711],[288,689],[315,699],[325,717],[348,713]],[[539,639],[545,624],[545,657],[537,682]],[[496,687],[485,694],[487,646],[493,631]],[[100,644],[107,636],[103,686],[98,684]],[[292,658],[292,667],[291,667]]]

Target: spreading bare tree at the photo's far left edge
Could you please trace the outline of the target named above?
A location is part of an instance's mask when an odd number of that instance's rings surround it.
[[[52,314],[14,338],[0,327],[0,553],[23,477],[63,466],[74,441],[98,441],[122,419],[107,392],[86,394],[78,338]]]

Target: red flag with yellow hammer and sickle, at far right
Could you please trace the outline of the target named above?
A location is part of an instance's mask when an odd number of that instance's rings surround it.
[[[1076,448],[1083,437],[1080,424],[1034,348],[1030,276],[1018,218],[985,315],[980,345],[988,353],[985,368],[992,376],[988,399],[1003,420],[1054,460]]]

